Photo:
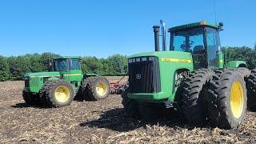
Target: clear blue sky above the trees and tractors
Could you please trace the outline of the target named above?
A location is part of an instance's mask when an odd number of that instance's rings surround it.
[[[216,0],[222,46],[256,41],[256,1]],[[214,0],[0,1],[0,55],[53,52],[96,56],[154,50],[152,26],[214,22]],[[167,35],[167,39],[169,35]]]

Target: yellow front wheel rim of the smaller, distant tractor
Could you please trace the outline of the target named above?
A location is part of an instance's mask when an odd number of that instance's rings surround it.
[[[70,90],[66,86],[58,86],[54,97],[58,102],[67,102],[70,99]]]

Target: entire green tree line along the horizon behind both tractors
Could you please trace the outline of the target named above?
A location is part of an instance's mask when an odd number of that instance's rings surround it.
[[[249,69],[256,67],[256,50],[247,47],[222,47],[226,58],[231,60],[246,61]],[[28,72],[40,72],[48,70],[50,58],[58,58],[58,54],[26,54],[18,57],[0,56],[0,81],[22,80]],[[227,59],[228,61],[228,59]],[[83,57],[82,72],[84,74],[121,75],[127,74],[127,57],[114,54],[108,58]]]

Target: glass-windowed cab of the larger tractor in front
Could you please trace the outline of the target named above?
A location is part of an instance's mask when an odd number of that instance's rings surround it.
[[[169,29],[170,50],[190,52],[194,69],[223,68],[219,31],[222,23],[196,22]]]

